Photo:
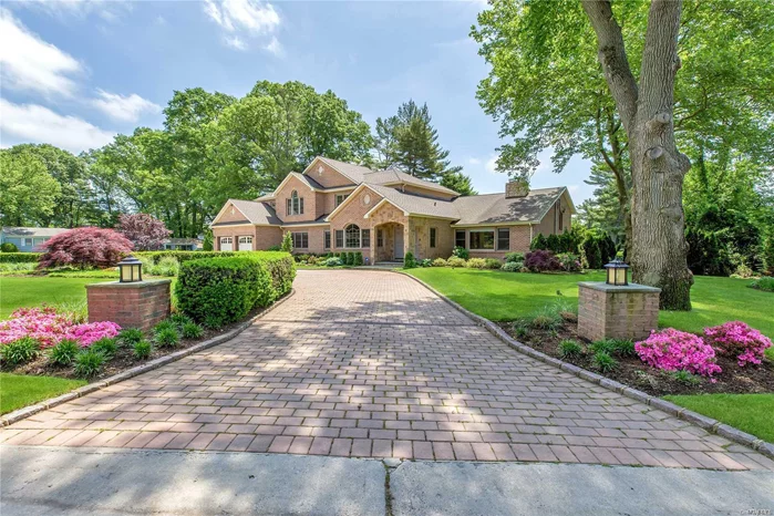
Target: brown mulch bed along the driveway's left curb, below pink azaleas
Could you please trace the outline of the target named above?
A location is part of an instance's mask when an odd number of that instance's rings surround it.
[[[235,328],[237,328],[239,324],[242,324],[245,321],[252,319],[254,317],[258,316],[261,311],[266,310],[266,308],[257,308],[252,310],[245,320],[239,321],[239,322],[234,322],[231,324],[225,326],[223,328],[219,328],[217,330],[204,330],[204,334],[202,336],[200,339],[180,339],[180,342],[177,344],[175,348],[158,348],[154,344],[153,347],[153,353],[151,353],[151,357],[148,357],[145,360],[137,360],[134,358],[134,350],[130,348],[118,348],[118,350],[115,352],[113,358],[110,361],[106,361],[105,364],[102,368],[102,372],[93,378],[87,379],[90,382],[95,382],[102,379],[105,379],[107,376],[112,376],[114,374],[118,374],[123,371],[126,371],[127,369],[136,368],[137,365],[142,365],[145,362],[149,362],[153,359],[158,359],[161,357],[174,353],[176,351],[180,351],[187,348],[190,348],[193,345],[196,345],[200,342],[204,342],[206,340],[213,339],[217,336],[220,336],[223,333],[227,333]],[[152,340],[152,336],[147,336],[148,340]],[[45,375],[45,376],[59,376],[59,378],[69,378],[69,379],[80,379],[74,371],[74,368],[72,365],[68,367],[62,367],[62,365],[53,365],[48,362],[47,359],[47,350],[42,350],[42,352],[38,355],[35,360],[32,362],[28,362],[25,364],[19,365],[17,368],[7,368],[3,367],[2,371],[8,372],[8,373],[13,373],[13,374],[34,374],[34,375]]]

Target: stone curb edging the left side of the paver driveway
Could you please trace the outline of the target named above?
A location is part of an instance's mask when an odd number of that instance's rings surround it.
[[[114,374],[112,376],[109,376],[104,380],[100,380],[99,382],[83,385],[82,388],[75,389],[74,391],[69,392],[66,394],[62,394],[62,395],[56,396],[56,398],[50,398],[48,400],[43,400],[40,403],[35,403],[34,405],[25,406],[23,409],[19,409],[17,411],[10,412],[10,413],[3,415],[2,417],[0,417],[0,427],[8,426],[8,425],[13,424],[13,423],[21,421],[21,420],[25,420],[27,417],[30,417],[39,412],[52,409],[56,405],[61,405],[62,403],[73,401],[73,400],[76,400],[79,398],[85,396],[86,394],[91,394],[92,392],[96,392],[96,391],[104,389],[109,385],[114,385],[118,382],[123,382],[124,380],[128,380],[131,378],[137,376],[137,375],[146,373],[148,371],[153,371],[155,369],[161,368],[162,365],[166,365],[168,363],[176,362],[176,361],[182,360],[186,357],[189,357],[194,353],[198,353],[199,351],[204,351],[204,350],[213,348],[215,345],[223,344],[224,342],[234,339],[239,333],[241,333],[242,331],[248,329],[255,321],[261,319],[264,316],[271,312],[275,308],[279,307],[285,301],[290,299],[295,293],[296,293],[296,289],[291,289],[287,296],[277,300],[274,305],[267,307],[266,310],[264,310],[262,312],[258,313],[257,316],[250,318],[249,320],[240,323],[238,327],[234,328],[233,330],[227,331],[226,333],[213,337],[211,339],[206,340],[204,342],[199,342],[198,344],[192,345],[190,348],[175,351],[174,353],[165,354],[164,357],[159,357],[159,358],[152,360],[149,362],[146,362],[142,365],[137,365],[136,368],[127,369],[126,371],[122,371],[122,372]]]

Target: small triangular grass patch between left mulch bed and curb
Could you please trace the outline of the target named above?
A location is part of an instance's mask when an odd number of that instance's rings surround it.
[[[0,413],[32,405],[85,384],[82,380],[0,373]]]

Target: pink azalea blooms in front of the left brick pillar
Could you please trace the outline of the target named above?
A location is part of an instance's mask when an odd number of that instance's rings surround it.
[[[21,308],[11,318],[0,321],[0,345],[22,337],[32,337],[42,348],[58,344],[62,339],[78,341],[86,348],[105,337],[115,337],[121,327],[115,322],[79,323],[72,316],[58,313],[51,307]]]

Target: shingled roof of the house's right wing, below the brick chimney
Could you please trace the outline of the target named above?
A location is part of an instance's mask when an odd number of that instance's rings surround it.
[[[567,188],[539,188],[530,190],[526,197],[506,198],[505,194],[472,195],[457,197],[452,204],[460,214],[458,226],[539,223]],[[575,211],[570,203],[570,209]]]

